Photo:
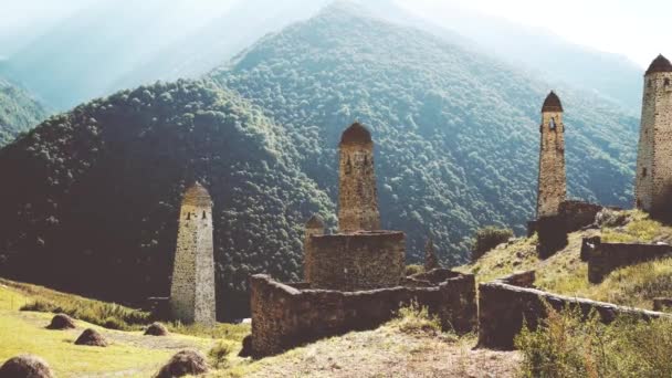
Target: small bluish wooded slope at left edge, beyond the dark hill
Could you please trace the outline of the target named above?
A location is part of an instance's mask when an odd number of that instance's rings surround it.
[[[0,77],[0,147],[28,132],[49,115],[25,90]]]

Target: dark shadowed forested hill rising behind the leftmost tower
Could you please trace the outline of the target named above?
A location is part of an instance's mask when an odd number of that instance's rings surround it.
[[[334,222],[281,132],[188,81],[50,118],[0,149],[0,275],[117,302],[168,295],[180,198],[199,180],[214,202],[220,314],[244,315],[248,275],[300,280],[303,223]]]

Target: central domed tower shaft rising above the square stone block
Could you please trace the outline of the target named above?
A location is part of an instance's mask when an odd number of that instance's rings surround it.
[[[379,230],[371,134],[355,123],[343,133],[338,147],[338,229],[340,232]]]

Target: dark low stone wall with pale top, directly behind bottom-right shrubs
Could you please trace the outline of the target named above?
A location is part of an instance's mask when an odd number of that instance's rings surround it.
[[[619,315],[642,319],[668,316],[610,303],[555,295],[508,283],[518,280],[519,277],[512,280],[510,276],[479,285],[479,347],[513,349],[514,338],[523,328],[523,322],[525,321],[531,329],[536,329],[539,321],[547,316],[547,305],[556,311],[579,308],[584,315],[595,311],[603,323],[610,323]],[[524,282],[529,282],[529,276]]]

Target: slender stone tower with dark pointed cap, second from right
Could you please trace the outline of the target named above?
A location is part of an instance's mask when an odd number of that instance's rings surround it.
[[[553,91],[542,106],[540,134],[537,219],[556,216],[567,197],[563,105]]]

